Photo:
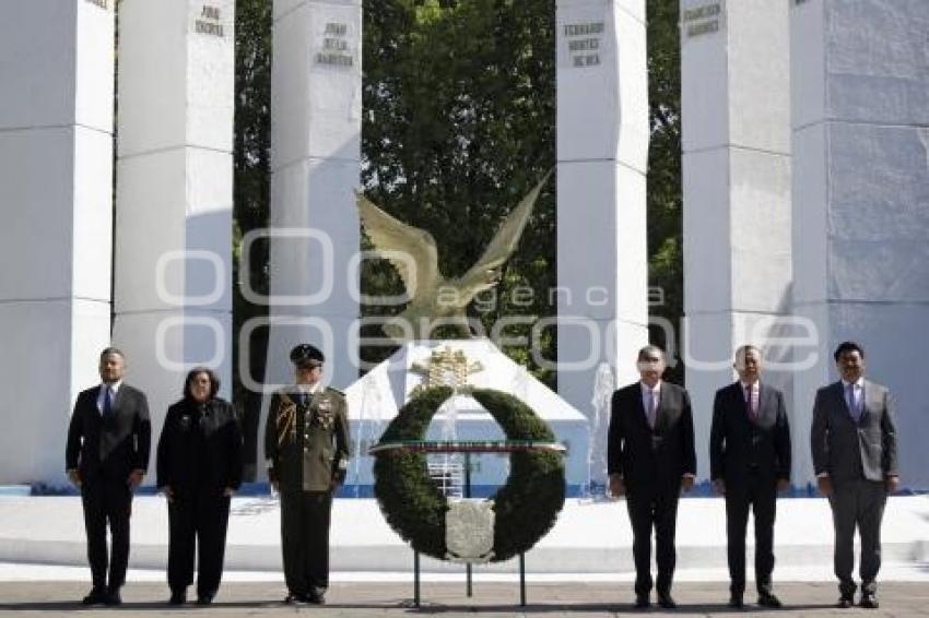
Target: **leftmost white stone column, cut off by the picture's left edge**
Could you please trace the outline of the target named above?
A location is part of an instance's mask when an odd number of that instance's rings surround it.
[[[111,0],[0,20],[0,484],[64,484],[77,394],[109,343]]]

